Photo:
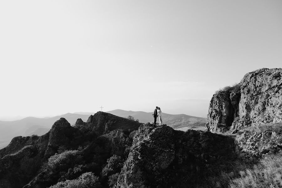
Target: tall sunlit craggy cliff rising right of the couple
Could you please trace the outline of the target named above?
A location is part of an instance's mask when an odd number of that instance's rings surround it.
[[[255,70],[238,86],[239,91],[229,87],[213,95],[206,130],[218,133],[282,122],[282,69]]]

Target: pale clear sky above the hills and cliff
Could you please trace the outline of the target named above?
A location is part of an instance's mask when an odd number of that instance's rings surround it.
[[[282,66],[280,0],[0,1],[0,120],[114,109],[205,117]]]

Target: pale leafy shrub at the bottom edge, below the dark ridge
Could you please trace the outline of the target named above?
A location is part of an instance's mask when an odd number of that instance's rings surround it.
[[[66,180],[58,182],[49,188],[100,188],[99,178],[92,172],[86,172],[75,180]]]

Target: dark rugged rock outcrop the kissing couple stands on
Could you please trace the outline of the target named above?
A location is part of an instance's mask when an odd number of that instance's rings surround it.
[[[118,176],[117,188],[190,187],[216,161],[235,157],[232,138],[144,124]]]

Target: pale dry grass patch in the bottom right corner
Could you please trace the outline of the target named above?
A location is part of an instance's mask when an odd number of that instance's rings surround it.
[[[261,159],[252,169],[239,174],[241,177],[230,180],[230,188],[282,187],[282,155]]]

